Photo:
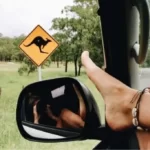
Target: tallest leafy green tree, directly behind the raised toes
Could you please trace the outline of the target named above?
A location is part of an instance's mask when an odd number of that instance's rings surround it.
[[[98,66],[103,64],[100,20],[97,9],[96,0],[74,0],[73,6],[66,6],[62,10],[66,17],[53,20],[51,29],[66,34],[68,37],[66,41],[68,39],[70,41],[70,55],[72,55],[70,57],[74,61],[75,76],[80,75],[80,55],[85,49],[90,50],[91,56]],[[101,57],[98,58],[99,55]],[[77,68],[79,68],[78,73]]]

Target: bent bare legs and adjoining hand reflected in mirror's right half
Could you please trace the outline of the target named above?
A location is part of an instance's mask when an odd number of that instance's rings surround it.
[[[79,101],[78,112],[74,113],[71,109],[63,108],[60,115],[56,117],[50,109],[50,105],[47,105],[47,113],[51,119],[54,119],[57,124],[57,128],[83,128],[86,117],[86,106],[83,97],[77,87],[73,84],[73,90],[77,95]],[[66,93],[69,94],[69,93]],[[70,100],[70,99],[69,99]]]

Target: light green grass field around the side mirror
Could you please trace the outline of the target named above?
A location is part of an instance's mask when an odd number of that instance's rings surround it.
[[[91,150],[99,141],[86,140],[66,143],[37,143],[30,142],[22,138],[16,126],[16,104],[23,86],[38,80],[37,72],[29,76],[19,76],[17,69],[19,64],[0,63],[0,87],[2,95],[0,97],[0,150]],[[52,64],[50,68],[42,70],[42,78],[50,79],[62,76],[73,77],[73,64],[69,65],[68,73],[64,72],[64,66],[56,68]],[[82,69],[81,76],[78,77],[93,93],[99,107],[101,108],[102,120],[104,120],[103,100],[92,82],[87,78]]]

